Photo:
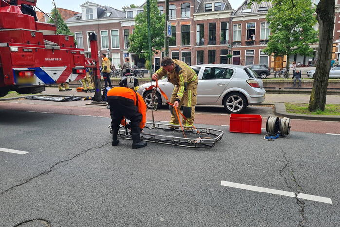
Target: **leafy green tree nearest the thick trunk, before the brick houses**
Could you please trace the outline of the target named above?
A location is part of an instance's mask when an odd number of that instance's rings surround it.
[[[313,49],[308,44],[316,43],[317,31],[313,29],[316,19],[311,0],[281,0],[268,10],[266,15],[270,23],[272,35],[263,52],[267,54],[287,55],[289,68],[290,54],[303,56],[313,55]]]

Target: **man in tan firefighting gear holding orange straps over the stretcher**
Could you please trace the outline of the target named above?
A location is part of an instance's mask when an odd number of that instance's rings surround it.
[[[161,62],[161,68],[152,75],[153,80],[158,80],[167,74],[168,82],[175,85],[170,98],[172,107],[180,108],[183,106],[183,115],[188,122],[183,119],[184,126],[192,126],[194,123],[195,105],[197,103],[197,84],[198,76],[196,72],[190,68],[185,62],[164,57]],[[170,124],[179,127],[179,119],[177,119],[175,111],[171,109]]]

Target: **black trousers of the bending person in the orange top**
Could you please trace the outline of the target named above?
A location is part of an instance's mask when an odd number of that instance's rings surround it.
[[[131,133],[140,134],[139,125],[142,120],[142,114],[138,112],[138,107],[134,105],[134,101],[124,97],[107,97],[108,105],[110,105],[111,126],[112,130],[119,129],[119,125],[125,116],[130,120]]]

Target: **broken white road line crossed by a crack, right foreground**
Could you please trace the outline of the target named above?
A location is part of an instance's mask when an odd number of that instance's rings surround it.
[[[285,195],[288,197],[295,197],[294,192],[287,192],[283,190],[257,187],[257,186],[247,185],[247,184],[233,183],[233,182],[223,181],[223,180],[221,180],[221,185],[227,186],[227,187],[239,188],[239,189],[246,189],[246,190],[251,190],[251,191],[256,191],[256,192],[264,192],[264,193],[270,193],[270,194]],[[308,195],[308,194],[303,194],[303,193],[299,193],[297,197],[301,199],[307,199],[307,200],[332,204],[332,200],[327,197]]]

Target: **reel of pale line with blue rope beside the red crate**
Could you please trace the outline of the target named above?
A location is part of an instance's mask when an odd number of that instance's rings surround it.
[[[266,132],[267,135],[264,136],[265,140],[273,141],[280,136],[287,135],[290,133],[290,118],[278,118],[278,117],[268,117],[266,122]]]

